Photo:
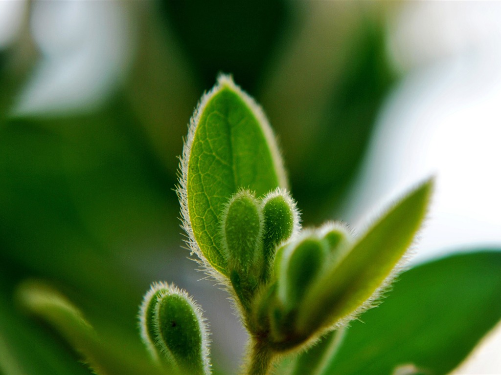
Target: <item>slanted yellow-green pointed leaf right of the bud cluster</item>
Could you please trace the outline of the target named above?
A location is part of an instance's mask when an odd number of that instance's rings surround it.
[[[392,272],[412,243],[431,189],[432,180],[428,180],[397,202],[316,282],[298,316],[299,332],[310,334],[370,307],[374,294],[391,281]]]

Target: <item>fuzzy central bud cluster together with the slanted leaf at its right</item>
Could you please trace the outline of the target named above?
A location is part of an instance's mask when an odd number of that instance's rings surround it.
[[[298,232],[285,190],[228,201],[221,242],[249,331],[274,351],[305,347],[377,303],[425,215],[432,182],[414,189],[365,233],[330,222]]]

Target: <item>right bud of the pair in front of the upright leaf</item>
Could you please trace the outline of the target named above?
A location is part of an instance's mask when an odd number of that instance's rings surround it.
[[[299,213],[296,202],[281,188],[268,193],[263,198],[264,235],[263,252],[265,267],[263,279],[268,280],[277,246],[299,230]]]

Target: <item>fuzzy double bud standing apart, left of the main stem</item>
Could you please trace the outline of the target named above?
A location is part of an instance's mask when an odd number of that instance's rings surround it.
[[[143,299],[140,324],[141,337],[152,356],[167,368],[179,373],[210,373],[206,323],[200,307],[185,291],[154,283]]]

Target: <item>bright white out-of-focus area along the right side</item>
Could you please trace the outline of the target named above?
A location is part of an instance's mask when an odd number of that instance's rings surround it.
[[[434,174],[414,261],[501,248],[501,2],[409,1],[402,10],[390,50],[405,79],[380,113],[345,218],[357,227]],[[499,353],[501,326],[456,372],[499,374]]]

